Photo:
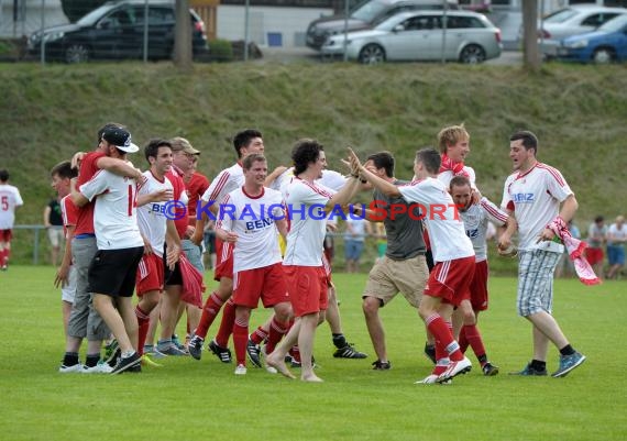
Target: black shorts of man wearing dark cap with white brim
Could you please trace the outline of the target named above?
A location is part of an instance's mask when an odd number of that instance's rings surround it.
[[[138,265],[144,247],[98,250],[87,273],[88,291],[111,297],[132,297]]]

